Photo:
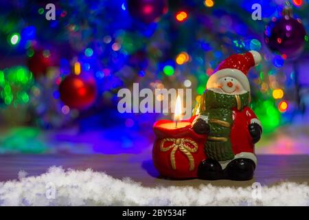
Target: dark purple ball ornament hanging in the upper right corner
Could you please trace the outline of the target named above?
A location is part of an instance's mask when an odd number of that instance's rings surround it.
[[[273,52],[288,59],[297,58],[304,50],[306,30],[300,19],[294,19],[292,9],[284,8],[282,17],[266,25],[265,43]]]

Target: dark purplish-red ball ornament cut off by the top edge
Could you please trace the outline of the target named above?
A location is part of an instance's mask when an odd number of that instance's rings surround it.
[[[131,16],[144,23],[157,21],[168,12],[166,0],[127,0],[126,5]]]

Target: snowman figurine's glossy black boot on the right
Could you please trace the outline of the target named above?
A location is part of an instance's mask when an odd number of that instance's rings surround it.
[[[255,163],[251,159],[233,159],[225,168],[225,178],[232,180],[249,180],[253,178]]]

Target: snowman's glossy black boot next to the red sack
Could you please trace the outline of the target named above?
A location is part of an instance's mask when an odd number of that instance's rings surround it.
[[[215,180],[222,179],[223,170],[219,162],[214,159],[205,159],[198,165],[198,178]]]

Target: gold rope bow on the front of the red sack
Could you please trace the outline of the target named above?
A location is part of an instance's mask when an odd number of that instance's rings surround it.
[[[173,144],[168,147],[164,147],[165,142],[173,142]],[[191,144],[194,147],[191,148],[187,144]],[[165,152],[170,150],[171,148],[172,152],[170,153],[170,163],[172,164],[173,170],[176,170],[175,153],[177,149],[179,149],[179,151],[183,152],[187,156],[190,164],[189,170],[194,170],[194,158],[191,153],[195,153],[198,150],[198,145],[196,144],[196,142],[186,138],[164,138],[160,144],[160,151]]]

